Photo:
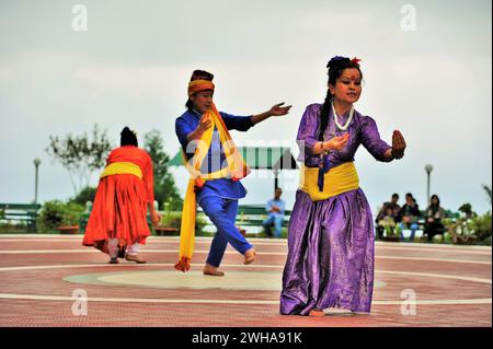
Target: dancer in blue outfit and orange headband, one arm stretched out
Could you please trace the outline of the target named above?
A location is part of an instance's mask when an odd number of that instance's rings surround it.
[[[214,75],[203,70],[195,70],[188,84],[187,110],[175,121],[175,131],[186,161],[191,162],[197,142],[203,138],[204,132],[211,127],[211,120],[206,116],[206,112],[214,107],[213,96],[215,85],[211,83]],[[283,106],[284,103],[274,105],[270,110],[253,116],[234,116],[219,113],[223,125],[228,130],[236,129],[246,131],[252,126],[270,118],[271,116],[282,116],[289,112],[290,106]],[[214,129],[213,140],[208,149],[207,156],[200,166],[202,174],[211,174],[228,167],[223,144],[221,143],[217,128]],[[203,269],[204,275],[223,276],[218,267],[223,257],[227,244],[230,243],[239,253],[244,255],[244,263],[250,264],[255,258],[253,246],[245,240],[236,226],[236,216],[238,200],[244,198],[246,190],[234,177],[221,177],[205,181],[202,187],[196,186],[196,202],[217,228],[210,245],[209,255]]]

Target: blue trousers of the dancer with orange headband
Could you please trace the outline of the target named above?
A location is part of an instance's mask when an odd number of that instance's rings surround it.
[[[219,267],[228,243],[244,255],[253,246],[241,235],[234,225],[238,211],[238,200],[223,199],[218,196],[206,196],[199,202],[204,213],[217,228],[217,233],[210,244],[207,264]]]

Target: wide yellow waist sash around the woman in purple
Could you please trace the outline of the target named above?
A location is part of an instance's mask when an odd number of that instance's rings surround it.
[[[346,162],[329,170],[324,174],[325,185],[323,186],[323,191],[319,190],[317,185],[318,178],[318,167],[301,166],[299,188],[310,195],[312,201],[325,200],[342,193],[359,188],[359,177],[353,162]]]

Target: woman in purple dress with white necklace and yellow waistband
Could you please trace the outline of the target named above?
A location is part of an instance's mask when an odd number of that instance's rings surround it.
[[[377,125],[353,107],[362,94],[359,59],[336,56],[329,63],[323,104],[307,107],[297,141],[303,162],[289,223],[280,313],[323,316],[369,313],[374,289],[372,216],[354,166],[359,144],[381,162],[404,155],[395,130],[392,147]]]

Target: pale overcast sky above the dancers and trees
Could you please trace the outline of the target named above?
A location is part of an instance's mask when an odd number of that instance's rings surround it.
[[[72,25],[83,24],[80,10],[72,13],[76,4],[88,11],[87,31]],[[158,129],[173,156],[174,120],[194,69],[215,73],[220,110],[249,115],[293,104],[287,117],[232,136],[239,144],[291,144],[297,155],[305,107],[323,101],[326,61],[342,55],[363,59],[366,84],[356,109],[376,119],[388,142],[394,129],[408,142],[406,156],[390,164],[363,147],[357,153],[374,211],[392,193],[408,191],[424,208],[429,163],[432,194],[445,208],[471,202],[485,212],[491,10],[490,0],[2,0],[0,202],[34,199],[35,158],[42,160],[41,201],[73,195],[66,171],[44,151],[49,135],[82,133],[98,123],[117,144],[124,126],[136,129],[140,142]],[[173,173],[183,194],[186,172]],[[296,172],[280,179],[288,206],[297,181]],[[264,203],[273,191],[268,173],[243,184],[249,194],[241,203]]]

